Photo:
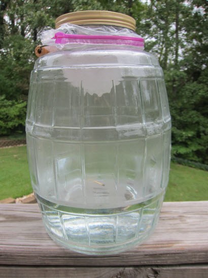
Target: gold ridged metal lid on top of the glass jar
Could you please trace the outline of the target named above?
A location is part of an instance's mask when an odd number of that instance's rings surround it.
[[[75,25],[113,25],[129,28],[135,31],[136,22],[132,17],[109,11],[81,11],[59,16],[56,21],[56,29],[64,23]]]

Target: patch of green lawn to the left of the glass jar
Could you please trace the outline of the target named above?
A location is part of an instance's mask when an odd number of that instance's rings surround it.
[[[31,192],[26,146],[0,148],[0,200]]]

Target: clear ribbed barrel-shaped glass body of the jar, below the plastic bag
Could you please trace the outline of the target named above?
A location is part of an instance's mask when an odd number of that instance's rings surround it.
[[[170,114],[157,59],[133,47],[49,53],[31,74],[31,183],[62,245],[112,254],[158,220],[170,162]]]

